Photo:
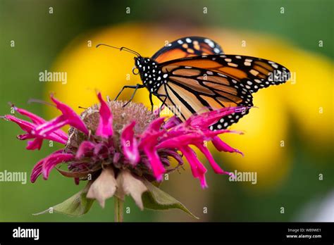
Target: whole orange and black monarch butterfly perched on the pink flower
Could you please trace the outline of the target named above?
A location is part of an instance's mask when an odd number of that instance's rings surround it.
[[[97,46],[101,45],[110,46]],[[152,108],[154,95],[168,108],[176,108],[180,120],[186,120],[199,111],[247,106],[240,113],[221,118],[210,126],[210,130],[225,129],[246,115],[249,107],[253,106],[252,93],[282,84],[290,78],[289,70],[283,65],[263,58],[224,54],[221,46],[205,37],[175,40],[151,58],[144,58],[125,47],[110,47],[135,54],[138,73],[132,72],[140,74],[142,84],[123,87],[135,89],[130,101],[137,89],[146,87]]]

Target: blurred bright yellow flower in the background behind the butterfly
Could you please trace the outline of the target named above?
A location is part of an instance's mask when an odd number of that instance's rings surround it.
[[[237,154],[228,156],[233,162],[230,169],[223,165],[227,154],[218,155],[222,158],[218,162],[225,170],[257,172],[259,189],[282,182],[290,170],[292,152],[288,130],[292,120],[312,149],[319,145],[330,147],[333,141],[333,62],[283,40],[254,32],[209,28],[178,32],[154,25],[127,24],[84,34],[68,44],[52,68],[68,73],[67,84],[50,83],[46,95],[55,92],[58,99],[73,108],[95,103],[92,96],[95,89],[113,99],[123,85],[141,83],[140,77],[132,74],[131,54],[106,47],[96,49],[97,44],[127,46],[142,56],[152,56],[166,42],[187,35],[214,39],[226,54],[266,58],[292,71],[292,79],[287,84],[263,89],[254,95],[254,105],[259,108],[252,108],[249,115],[231,127],[244,131],[244,135],[223,136],[245,153],[245,158]],[[125,91],[120,99],[130,98],[131,92],[131,89]],[[141,89],[134,101],[149,106],[149,93]],[[154,99],[154,103],[161,102]],[[48,113],[52,115],[51,111]]]

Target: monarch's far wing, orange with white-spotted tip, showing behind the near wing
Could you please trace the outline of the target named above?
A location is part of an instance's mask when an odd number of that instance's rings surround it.
[[[163,63],[179,58],[202,56],[209,54],[223,54],[221,46],[205,37],[184,37],[177,39],[160,49],[151,58]]]

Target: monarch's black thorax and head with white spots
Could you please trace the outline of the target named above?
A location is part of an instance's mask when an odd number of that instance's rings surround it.
[[[167,82],[168,75],[161,71],[156,61],[150,58],[136,57],[135,65],[139,70],[142,83],[150,93],[156,93],[159,87]]]

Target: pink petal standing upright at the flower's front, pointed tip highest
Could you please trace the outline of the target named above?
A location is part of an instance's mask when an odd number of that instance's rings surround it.
[[[106,101],[102,99],[101,93],[97,94],[97,98],[99,98],[101,107],[99,111],[99,126],[97,127],[97,132],[95,132],[95,134],[97,136],[109,138],[113,135],[113,115],[111,114]]]

